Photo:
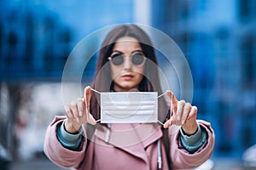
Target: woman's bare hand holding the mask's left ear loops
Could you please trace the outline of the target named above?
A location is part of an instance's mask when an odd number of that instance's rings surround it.
[[[96,120],[90,114],[90,86],[84,88],[84,98],[72,101],[64,107],[67,121],[64,126],[67,133],[77,133],[84,123],[96,125]]]

